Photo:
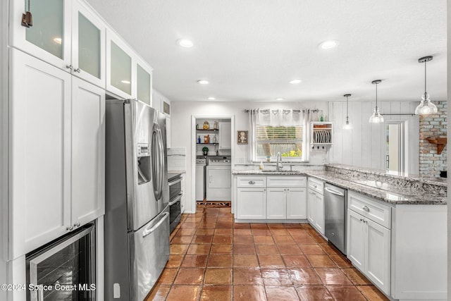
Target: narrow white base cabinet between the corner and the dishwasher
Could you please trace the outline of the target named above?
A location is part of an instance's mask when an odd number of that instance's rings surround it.
[[[308,180],[307,219],[311,226],[324,235],[324,183],[315,178]]]

